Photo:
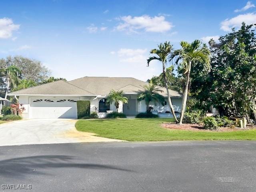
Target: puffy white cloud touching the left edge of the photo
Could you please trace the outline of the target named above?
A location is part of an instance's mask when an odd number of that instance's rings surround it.
[[[20,25],[13,23],[10,18],[0,19],[0,38],[7,39],[12,37],[12,32],[18,30]]]

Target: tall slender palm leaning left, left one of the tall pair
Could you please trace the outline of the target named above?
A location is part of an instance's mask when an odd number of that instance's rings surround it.
[[[168,62],[168,57],[170,56],[172,52],[172,45],[170,44],[170,42],[164,42],[164,44],[160,44],[158,45],[158,49],[152,49],[150,51],[151,54],[156,54],[157,56],[150,56],[147,60],[148,62],[148,66],[150,61],[152,60],[158,60],[160,62],[162,62],[162,68],[163,68],[163,78],[164,78],[164,86],[166,88],[167,91],[167,96],[168,96],[168,104],[170,106],[170,109],[172,111],[172,115],[174,116],[174,119],[176,122],[178,122],[178,119],[176,118],[176,115],[174,113],[174,108],[172,106],[172,100],[170,97],[170,92],[169,92],[169,86],[168,86],[168,82],[167,82],[167,78],[166,78],[166,64]]]

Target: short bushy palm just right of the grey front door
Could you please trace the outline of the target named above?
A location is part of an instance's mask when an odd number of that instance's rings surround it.
[[[164,96],[157,93],[157,92],[163,92],[162,90],[156,87],[156,85],[152,84],[152,82],[150,82],[148,85],[144,85],[143,88],[144,88],[144,91],[138,95],[138,101],[145,100],[145,103],[147,106],[147,112],[150,112],[150,109],[149,109],[150,102],[154,102],[155,105],[156,103],[160,103],[164,106]]]

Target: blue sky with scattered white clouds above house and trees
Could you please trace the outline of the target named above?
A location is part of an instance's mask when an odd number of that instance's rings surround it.
[[[149,51],[164,41],[217,39],[242,21],[256,23],[247,0],[2,0],[0,58],[40,60],[55,77],[147,80]],[[255,4],[255,5],[254,5]]]

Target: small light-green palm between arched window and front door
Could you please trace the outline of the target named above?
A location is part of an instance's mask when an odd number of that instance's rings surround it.
[[[115,91],[115,90],[111,90],[110,93],[107,96],[107,102],[109,104],[113,103],[116,106],[116,111],[118,112],[118,108],[119,108],[119,102],[122,103],[128,103],[128,98],[123,96],[123,91]]]

